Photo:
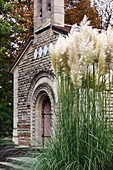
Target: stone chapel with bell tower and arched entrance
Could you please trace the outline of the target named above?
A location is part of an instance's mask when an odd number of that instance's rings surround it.
[[[34,0],[34,35],[12,65],[14,75],[13,141],[42,147],[56,122],[57,93],[49,55],[50,43],[68,34],[64,0]]]

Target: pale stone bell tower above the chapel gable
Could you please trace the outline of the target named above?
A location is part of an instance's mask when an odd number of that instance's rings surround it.
[[[64,0],[34,0],[34,33],[49,23],[64,25]]]

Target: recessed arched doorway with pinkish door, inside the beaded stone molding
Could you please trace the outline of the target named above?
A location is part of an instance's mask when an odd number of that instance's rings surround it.
[[[50,141],[54,119],[52,106],[48,93],[44,90],[40,91],[34,103],[34,114],[31,120],[32,144],[37,147],[46,146]]]

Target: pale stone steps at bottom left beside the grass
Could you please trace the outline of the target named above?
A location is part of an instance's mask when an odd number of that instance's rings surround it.
[[[36,158],[8,157],[6,161],[0,162],[0,170],[29,170],[36,162]]]

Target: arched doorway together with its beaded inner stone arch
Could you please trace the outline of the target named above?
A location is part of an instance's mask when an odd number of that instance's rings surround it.
[[[49,105],[49,108],[48,108]],[[47,115],[46,115],[47,112]],[[50,121],[49,121],[50,116]],[[48,119],[48,120],[47,120]],[[44,122],[50,122],[51,133],[53,132],[53,126],[55,125],[55,98],[51,87],[48,84],[39,85],[34,91],[31,107],[31,145],[37,147],[43,147],[50,139],[50,134],[45,131],[45,128],[50,125],[46,125]],[[48,133],[48,134],[47,134]]]

